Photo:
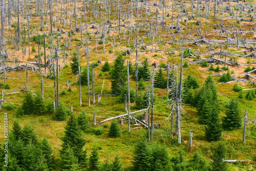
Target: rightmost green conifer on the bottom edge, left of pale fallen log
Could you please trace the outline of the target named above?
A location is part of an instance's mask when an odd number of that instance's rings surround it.
[[[214,152],[214,161],[212,162],[212,170],[224,171],[228,170],[227,162],[223,161],[226,155],[226,148],[224,144],[219,143]]]

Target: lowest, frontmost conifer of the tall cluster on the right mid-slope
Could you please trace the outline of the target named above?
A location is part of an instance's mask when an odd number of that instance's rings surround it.
[[[212,108],[210,117],[205,125],[205,138],[207,141],[218,141],[222,135],[222,125],[220,123],[220,113],[218,109]]]

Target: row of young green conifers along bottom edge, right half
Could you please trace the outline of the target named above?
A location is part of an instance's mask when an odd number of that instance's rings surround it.
[[[193,157],[186,161],[185,153],[182,150],[175,156],[170,156],[166,147],[156,143],[150,144],[146,139],[141,139],[135,145],[133,165],[129,170],[227,170],[227,162],[223,161],[225,155],[226,148],[219,143],[211,163],[207,162],[199,152],[195,152]]]

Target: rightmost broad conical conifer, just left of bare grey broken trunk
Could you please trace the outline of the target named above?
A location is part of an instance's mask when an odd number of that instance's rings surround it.
[[[234,98],[230,99],[226,108],[226,116],[222,120],[223,129],[228,131],[239,129],[242,126],[242,116],[238,100]]]

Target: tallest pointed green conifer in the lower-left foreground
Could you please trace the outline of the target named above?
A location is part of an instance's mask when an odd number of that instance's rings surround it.
[[[87,165],[87,151],[83,151],[83,146],[86,141],[83,139],[77,120],[73,115],[67,121],[64,132],[65,135],[62,138],[60,153],[63,153],[70,146],[74,152],[74,156],[78,159],[80,167],[85,167]]]

